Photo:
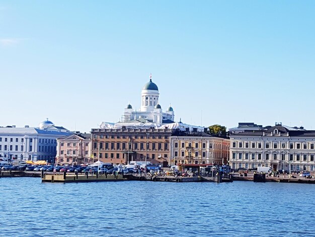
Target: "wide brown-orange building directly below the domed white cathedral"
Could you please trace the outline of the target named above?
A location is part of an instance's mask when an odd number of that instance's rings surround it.
[[[168,165],[171,129],[92,129],[94,161],[127,164],[145,161]]]

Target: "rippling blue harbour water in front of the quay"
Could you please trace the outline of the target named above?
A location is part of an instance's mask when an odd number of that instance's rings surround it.
[[[0,236],[314,236],[315,185],[0,179]]]

